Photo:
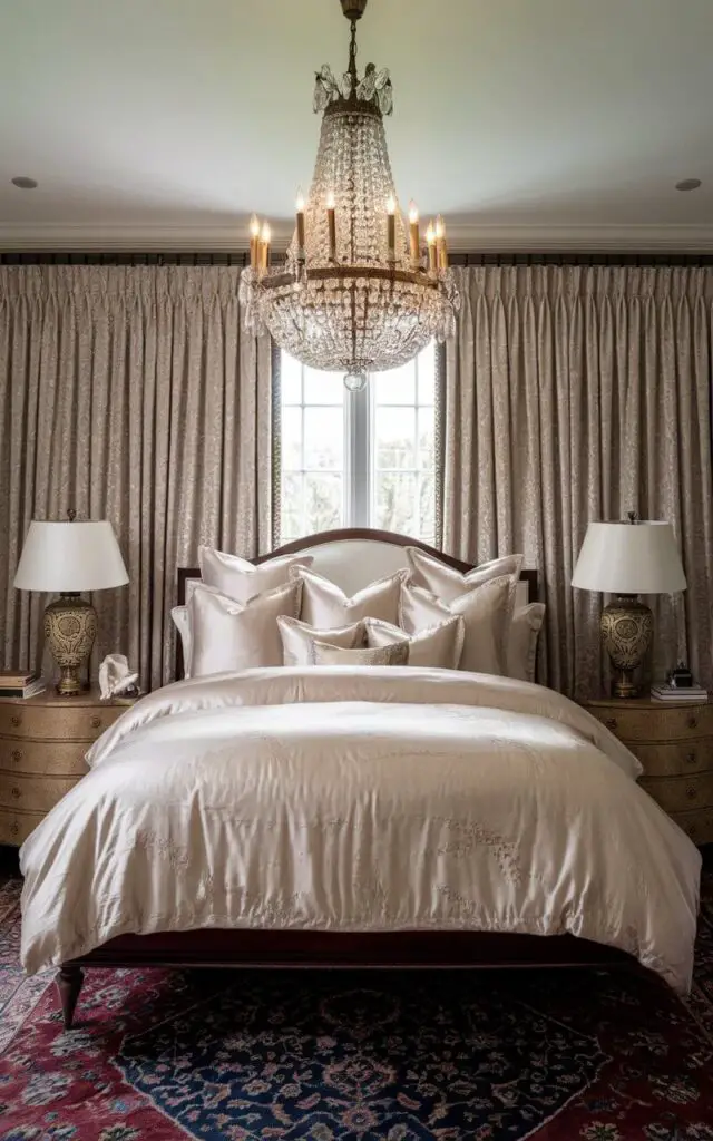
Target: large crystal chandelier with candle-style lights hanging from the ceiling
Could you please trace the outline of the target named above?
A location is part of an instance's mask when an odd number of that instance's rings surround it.
[[[349,67],[317,73],[314,110],[322,132],[307,202],[284,266],[270,268],[270,230],[253,216],[241,301],[250,331],[267,327],[281,348],[314,369],[343,370],[349,389],[368,372],[396,369],[455,324],[460,297],[448,268],[443,219],[421,245],[419,213],[404,221],[391,175],[383,115],[394,107],[384,68],[357,72],[356,25],[366,0],[340,0],[351,25]]]

